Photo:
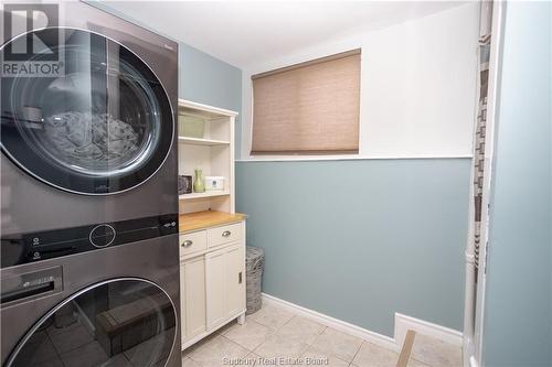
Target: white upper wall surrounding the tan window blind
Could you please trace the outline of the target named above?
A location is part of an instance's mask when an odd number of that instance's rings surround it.
[[[242,158],[250,156],[251,75],[362,48],[360,156],[470,156],[479,3],[358,32],[243,71]]]

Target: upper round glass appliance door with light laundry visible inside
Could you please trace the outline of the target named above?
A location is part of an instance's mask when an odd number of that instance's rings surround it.
[[[47,52],[32,50],[22,62],[51,64],[54,52],[60,72],[2,75],[3,152],[34,177],[79,194],[114,194],[152,176],[170,151],[174,121],[148,65],[110,39],[73,29],[21,35],[2,45],[1,60],[35,40]]]

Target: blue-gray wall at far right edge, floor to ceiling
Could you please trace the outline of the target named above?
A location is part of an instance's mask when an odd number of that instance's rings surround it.
[[[552,366],[550,2],[508,2],[484,361]]]

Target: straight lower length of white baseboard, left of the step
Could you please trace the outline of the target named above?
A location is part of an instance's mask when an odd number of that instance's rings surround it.
[[[395,341],[389,336],[368,331],[363,327],[350,324],[346,321],[341,321],[341,320],[325,315],[323,313],[319,313],[319,312],[306,309],[304,306],[280,300],[274,295],[269,295],[266,293],[263,293],[263,302],[265,302],[266,304],[272,303],[272,304],[278,305],[283,309],[287,309],[288,311],[290,311],[295,314],[298,314],[298,315],[304,316],[306,319],[310,319],[312,321],[316,321],[322,325],[332,327],[335,330],[347,333],[349,335],[360,337],[363,341],[382,346],[384,348],[399,352],[399,348],[397,348],[397,345],[395,344]]]

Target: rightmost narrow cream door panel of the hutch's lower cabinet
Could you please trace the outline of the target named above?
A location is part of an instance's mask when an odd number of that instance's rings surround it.
[[[245,309],[245,253],[237,246],[226,252],[227,315],[232,316]]]

